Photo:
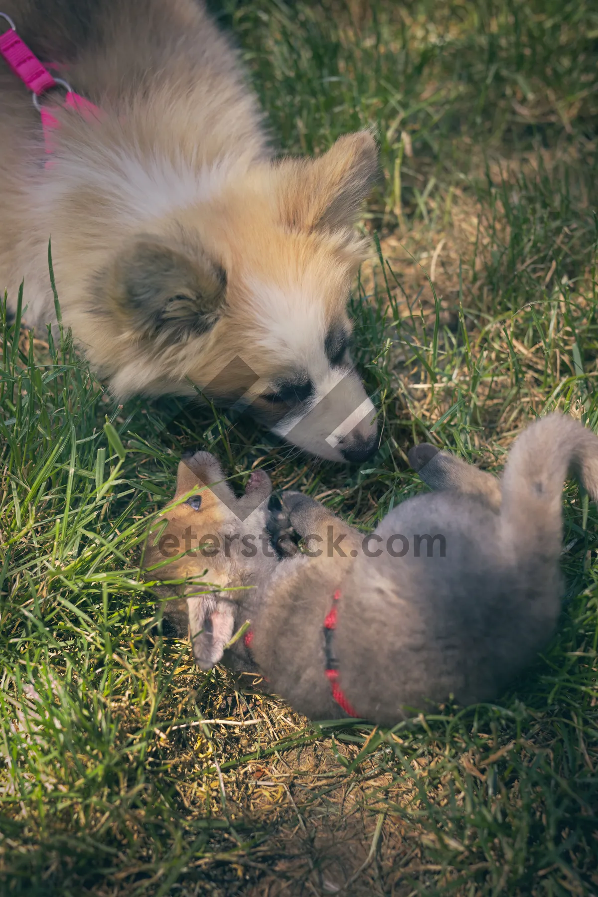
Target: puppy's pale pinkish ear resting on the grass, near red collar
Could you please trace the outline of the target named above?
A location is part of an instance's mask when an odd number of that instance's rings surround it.
[[[235,605],[210,595],[187,598],[195,663],[209,670],[221,661],[235,631]]]

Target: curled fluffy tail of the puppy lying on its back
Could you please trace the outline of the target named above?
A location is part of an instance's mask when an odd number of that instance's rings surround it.
[[[598,501],[598,437],[571,417],[549,414],[518,437],[502,477],[503,536],[521,561],[552,566],[559,558],[568,475]]]

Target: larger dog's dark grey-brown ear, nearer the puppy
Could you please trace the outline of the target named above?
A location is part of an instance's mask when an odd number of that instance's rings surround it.
[[[226,273],[201,248],[140,236],[99,275],[96,289],[127,328],[178,343],[218,320]]]

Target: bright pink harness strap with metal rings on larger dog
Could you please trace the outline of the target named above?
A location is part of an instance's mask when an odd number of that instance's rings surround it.
[[[48,72],[45,65],[39,61],[38,57],[31,52],[30,48],[25,44],[17,34],[13,20],[6,13],[0,13],[0,19],[8,22],[10,28],[0,35],[0,56],[4,57],[14,74],[21,78],[22,83],[33,94],[33,105],[39,111],[41,117],[41,126],[44,132],[44,143],[46,144],[46,152],[51,155],[56,149],[56,144],[52,140],[52,131],[60,127],[60,121],[53,116],[52,113],[39,104],[39,98],[44,93],[55,87],[62,87],[66,91],[65,100],[63,102],[64,109],[74,109],[86,121],[101,118],[101,110],[94,106],[89,100],[75,93],[70,84],[55,78]],[[53,162],[47,160],[45,167],[49,168]]]

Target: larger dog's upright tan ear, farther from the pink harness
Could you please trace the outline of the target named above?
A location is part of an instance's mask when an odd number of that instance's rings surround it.
[[[335,231],[355,222],[379,174],[368,131],[348,134],[317,159],[281,162],[279,203],[291,231]]]

